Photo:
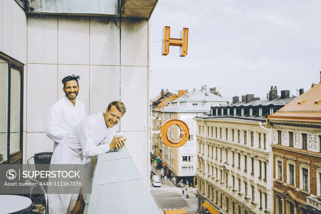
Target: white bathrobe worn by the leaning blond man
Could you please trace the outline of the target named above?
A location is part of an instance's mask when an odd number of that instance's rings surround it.
[[[91,164],[90,158],[109,151],[116,127],[107,128],[104,112],[83,119],[58,144],[50,164]],[[98,145],[100,144],[100,145]],[[89,167],[91,173],[91,166]],[[48,194],[49,213],[69,214],[79,194]],[[83,194],[86,201],[87,195]]]

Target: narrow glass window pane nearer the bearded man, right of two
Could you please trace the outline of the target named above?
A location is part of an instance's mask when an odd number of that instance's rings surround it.
[[[11,69],[10,154],[20,150],[20,71]]]

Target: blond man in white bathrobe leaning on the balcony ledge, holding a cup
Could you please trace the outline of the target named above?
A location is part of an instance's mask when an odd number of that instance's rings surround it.
[[[90,158],[121,149],[127,138],[115,138],[116,127],[126,113],[124,103],[113,101],[105,112],[85,117],[56,147],[50,164],[91,164]],[[48,194],[49,213],[82,213],[87,195]]]

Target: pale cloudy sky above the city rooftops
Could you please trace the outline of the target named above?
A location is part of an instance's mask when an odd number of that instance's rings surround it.
[[[159,0],[150,20],[152,97],[204,84],[223,97],[309,90],[320,82],[319,8],[317,0]],[[189,28],[187,56],[175,46],[161,55],[165,26],[177,39]]]

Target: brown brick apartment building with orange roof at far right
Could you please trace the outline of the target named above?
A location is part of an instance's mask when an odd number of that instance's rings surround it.
[[[275,214],[321,213],[321,84],[268,117]]]

